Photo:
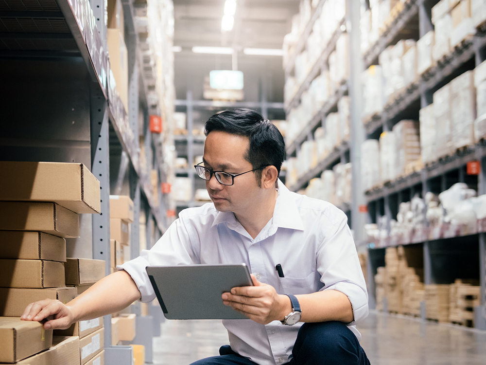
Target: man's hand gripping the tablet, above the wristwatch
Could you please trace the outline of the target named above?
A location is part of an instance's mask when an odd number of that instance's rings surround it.
[[[260,283],[253,274],[251,279],[254,286],[237,287],[230,293],[223,293],[223,303],[263,325],[283,320],[292,310],[288,296],[279,295],[274,287]]]

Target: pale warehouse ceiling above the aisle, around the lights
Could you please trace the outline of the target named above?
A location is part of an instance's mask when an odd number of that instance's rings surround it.
[[[221,30],[225,0],[174,0],[174,46],[182,48],[174,54],[176,98],[185,99],[191,90],[194,99],[202,99],[210,70],[237,69],[244,73],[246,101],[283,102],[282,57],[244,55],[243,49],[281,49],[299,2],[236,0],[234,26],[226,32]],[[237,56],[195,54],[195,46],[231,47]]]

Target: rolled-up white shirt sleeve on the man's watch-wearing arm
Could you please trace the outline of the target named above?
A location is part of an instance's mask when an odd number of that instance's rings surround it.
[[[351,231],[344,213],[337,215],[333,229],[324,234],[317,252],[318,271],[325,283],[321,290],[337,290],[349,298],[354,321],[368,315],[368,293]]]

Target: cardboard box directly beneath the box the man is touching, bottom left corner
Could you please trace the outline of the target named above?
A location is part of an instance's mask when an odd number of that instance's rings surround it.
[[[68,365],[79,364],[79,338],[52,336],[52,347],[17,364]]]

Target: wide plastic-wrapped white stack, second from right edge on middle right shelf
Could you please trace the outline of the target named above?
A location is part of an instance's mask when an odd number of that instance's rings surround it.
[[[474,72],[467,71],[451,81],[451,144],[453,150],[474,144],[475,119]]]

